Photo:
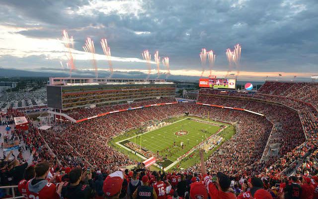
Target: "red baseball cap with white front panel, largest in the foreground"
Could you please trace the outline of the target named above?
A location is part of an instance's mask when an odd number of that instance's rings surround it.
[[[106,196],[111,197],[121,191],[124,176],[121,171],[115,171],[109,174],[103,184],[103,192]]]

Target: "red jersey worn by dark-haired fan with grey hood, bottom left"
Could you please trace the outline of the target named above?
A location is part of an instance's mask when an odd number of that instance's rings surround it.
[[[28,189],[30,181],[26,184],[26,195],[28,199],[60,199],[56,193],[56,186],[52,183],[47,183],[38,193],[30,192]]]

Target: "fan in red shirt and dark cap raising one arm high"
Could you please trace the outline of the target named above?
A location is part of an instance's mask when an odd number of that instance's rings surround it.
[[[207,175],[205,162],[204,162],[204,155],[202,150],[200,151],[200,158],[201,158],[201,173],[203,175],[204,183],[211,199],[235,199],[236,198],[235,195],[229,192],[230,184],[231,184],[230,178],[227,175],[219,172],[217,174],[216,184],[214,184],[211,181],[210,177]],[[190,196],[191,196],[191,191],[190,191]]]

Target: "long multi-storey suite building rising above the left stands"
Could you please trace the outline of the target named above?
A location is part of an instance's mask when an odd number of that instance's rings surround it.
[[[50,78],[48,107],[55,112],[175,96],[175,84],[161,79]]]

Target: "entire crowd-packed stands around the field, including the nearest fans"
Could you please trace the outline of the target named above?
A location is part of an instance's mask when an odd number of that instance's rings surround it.
[[[6,154],[0,184],[21,181],[19,192],[37,199],[318,199],[317,94],[314,83],[266,82],[258,92],[202,89],[196,103],[114,112],[79,123],[51,120],[53,128],[48,130],[38,129],[29,120],[28,132],[13,128],[9,133],[19,136],[32,155],[13,159],[11,153]],[[80,119],[172,101],[175,99],[164,98],[67,113]],[[210,119],[234,122],[237,133],[206,161],[201,151],[201,164],[160,173],[141,168],[108,145],[112,137],[128,129],[185,112],[198,117],[210,112]],[[1,121],[10,124],[15,116],[27,117],[8,108],[1,113]],[[138,169],[127,169],[124,174],[117,171],[133,164]],[[2,191],[2,197],[10,194]]]

